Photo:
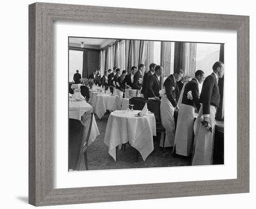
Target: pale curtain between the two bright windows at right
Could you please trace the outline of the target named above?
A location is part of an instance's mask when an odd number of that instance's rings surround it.
[[[174,68],[182,68],[184,75],[195,76],[196,43],[175,42]]]

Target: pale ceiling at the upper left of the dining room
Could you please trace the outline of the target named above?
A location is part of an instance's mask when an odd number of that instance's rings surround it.
[[[115,39],[91,39],[91,38],[69,38],[69,45],[80,45],[81,42],[84,42],[85,46],[94,46],[98,49],[109,45]]]

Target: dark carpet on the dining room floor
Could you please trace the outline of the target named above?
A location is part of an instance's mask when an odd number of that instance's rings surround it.
[[[167,147],[164,150],[159,146],[160,135],[154,137],[154,150],[143,161],[139,154],[138,162],[136,162],[136,150],[129,144],[126,144],[126,151],[118,150],[117,161],[108,154],[108,146],[104,144],[104,134],[108,121],[108,114],[100,120],[96,115],[96,123],[100,131],[95,141],[88,147],[88,169],[89,170],[109,170],[109,169],[129,169],[129,168],[152,168],[152,167],[171,167],[171,166],[189,166],[191,165],[191,157],[183,157],[172,155],[172,147]],[[70,136],[77,137],[75,135]],[[74,150],[69,150],[70,152]],[[72,159],[70,159],[72,161]],[[74,160],[74,159],[73,159]],[[82,159],[80,170],[85,170],[85,163]]]

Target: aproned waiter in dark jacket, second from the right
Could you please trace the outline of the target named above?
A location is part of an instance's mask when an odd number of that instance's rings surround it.
[[[174,151],[182,156],[189,156],[193,150],[195,108],[200,110],[198,85],[204,80],[204,72],[195,72],[195,78],[189,81],[183,91],[175,132]]]

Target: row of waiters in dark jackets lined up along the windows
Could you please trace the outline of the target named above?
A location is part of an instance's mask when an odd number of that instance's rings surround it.
[[[220,103],[218,78],[223,77],[224,64],[217,61],[212,69],[213,72],[206,78],[204,72],[198,70],[195,77],[189,80],[188,77],[183,77],[182,69],[177,68],[165,79],[162,94],[160,78],[163,68],[154,63],[149,65],[146,73],[144,64],[140,64],[138,69],[133,66],[128,75],[126,71],[114,67],[114,72],[104,72],[101,85],[115,86],[120,98],[123,98],[125,89],[131,87],[141,90],[141,96],[146,99],[161,100],[161,120],[166,138],[164,144],[161,139],[160,146],[173,147],[173,152],[182,156],[192,154],[192,165],[209,165],[213,159],[216,108]],[[94,71],[96,76],[97,73],[99,72]],[[95,78],[94,76],[94,81]],[[199,84],[202,84],[201,94]],[[198,110],[196,119],[195,108]],[[178,111],[176,128],[175,111]]]

